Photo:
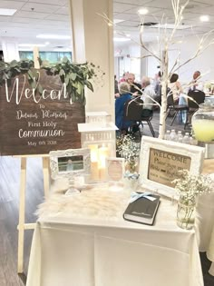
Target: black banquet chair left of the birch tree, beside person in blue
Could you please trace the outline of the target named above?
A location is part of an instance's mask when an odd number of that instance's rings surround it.
[[[135,133],[135,130],[139,131],[141,136],[140,126],[143,128],[143,124],[148,124],[151,130],[151,134],[155,137],[153,127],[151,125],[151,119],[153,116],[153,111],[151,110],[147,116],[142,116],[142,105],[143,101],[141,97],[136,97],[124,104],[124,120],[131,120],[132,124],[132,133]]]

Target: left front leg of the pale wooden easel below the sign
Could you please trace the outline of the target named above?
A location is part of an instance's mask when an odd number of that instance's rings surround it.
[[[18,273],[24,272],[24,216],[25,216],[26,158],[21,158],[21,180],[18,224]]]

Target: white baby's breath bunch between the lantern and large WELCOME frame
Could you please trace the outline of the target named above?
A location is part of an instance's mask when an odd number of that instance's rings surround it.
[[[121,136],[117,139],[117,151],[128,163],[130,171],[133,173],[140,155],[140,143],[136,143],[130,134]]]

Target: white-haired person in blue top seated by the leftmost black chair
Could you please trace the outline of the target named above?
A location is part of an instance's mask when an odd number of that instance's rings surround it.
[[[120,97],[115,100],[115,124],[116,126],[126,133],[131,126],[131,121],[123,121],[124,117],[124,104],[131,100],[130,84],[123,82],[119,85]]]

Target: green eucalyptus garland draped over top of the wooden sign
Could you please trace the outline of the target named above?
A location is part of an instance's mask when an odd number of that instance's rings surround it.
[[[66,93],[72,102],[85,104],[84,87],[93,92],[92,84],[102,84],[103,75],[100,66],[92,63],[73,64],[64,57],[61,62],[50,64],[40,61],[41,69],[49,76],[59,75],[62,84],[66,86]],[[43,94],[44,88],[39,84],[39,73],[34,69],[34,61],[22,60],[11,63],[0,62],[0,86],[5,83],[10,86],[12,79],[20,74],[27,76],[28,83],[35,93]],[[99,82],[100,81],[100,82]]]

